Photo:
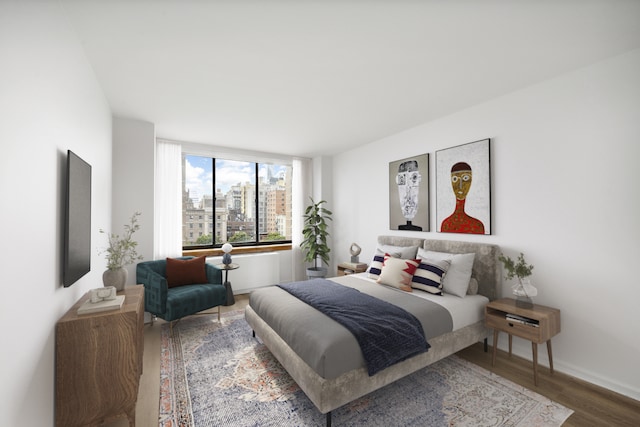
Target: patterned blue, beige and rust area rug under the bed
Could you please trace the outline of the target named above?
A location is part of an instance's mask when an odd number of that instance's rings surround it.
[[[162,427],[324,426],[242,312],[162,329]],[[332,413],[334,426],[559,426],[572,410],[457,356]]]

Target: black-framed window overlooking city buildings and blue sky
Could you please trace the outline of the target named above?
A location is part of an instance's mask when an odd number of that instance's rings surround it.
[[[183,249],[291,242],[290,165],[182,160]],[[202,230],[197,238],[188,232],[194,223]]]

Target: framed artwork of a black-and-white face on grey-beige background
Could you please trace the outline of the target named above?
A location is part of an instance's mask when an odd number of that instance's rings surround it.
[[[429,155],[389,163],[389,228],[429,231]]]

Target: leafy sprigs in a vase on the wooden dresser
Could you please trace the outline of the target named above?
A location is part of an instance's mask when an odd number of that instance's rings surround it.
[[[127,269],[124,267],[143,259],[136,251],[138,242],[133,240],[133,233],[140,229],[138,216],[140,216],[140,212],[135,212],[131,216],[129,224],[124,226],[122,237],[100,230],[101,233],[107,234],[109,240],[109,247],[103,251],[106,253],[105,258],[107,259],[107,270],[102,274],[104,286],[115,286],[116,290],[123,290],[128,276]]]

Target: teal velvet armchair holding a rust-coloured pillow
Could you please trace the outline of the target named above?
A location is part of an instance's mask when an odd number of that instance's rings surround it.
[[[181,257],[188,260],[193,257]],[[197,283],[169,287],[167,283],[167,261],[144,261],[136,266],[137,283],[144,285],[144,309],[168,322],[202,310],[218,307],[227,301],[227,292],[222,284],[222,271],[205,264],[208,283]]]

